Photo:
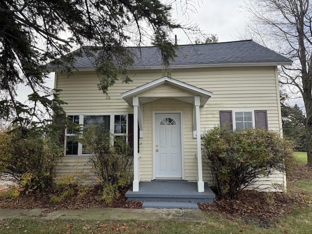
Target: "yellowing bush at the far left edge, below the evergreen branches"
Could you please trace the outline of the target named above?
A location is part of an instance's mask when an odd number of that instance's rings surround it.
[[[22,193],[42,191],[55,177],[55,166],[63,148],[58,136],[32,126],[0,132],[0,172],[21,187]]]

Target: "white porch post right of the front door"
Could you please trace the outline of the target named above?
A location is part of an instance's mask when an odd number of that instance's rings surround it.
[[[195,107],[195,118],[193,121],[196,122],[196,141],[197,141],[197,191],[203,193],[205,191],[205,184],[203,182],[203,171],[201,162],[201,139],[200,139],[200,97],[194,97],[194,107]]]

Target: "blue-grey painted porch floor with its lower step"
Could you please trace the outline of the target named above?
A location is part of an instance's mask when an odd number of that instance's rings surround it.
[[[143,208],[184,208],[198,209],[196,203],[214,203],[215,194],[205,183],[205,192],[197,192],[197,183],[185,180],[140,181],[140,190],[133,192],[131,187],[128,200],[143,201]]]

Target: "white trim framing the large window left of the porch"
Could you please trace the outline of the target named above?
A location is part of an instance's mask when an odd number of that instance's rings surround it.
[[[121,113],[66,113],[67,116],[79,116],[79,125],[83,128],[83,116],[110,116],[110,132],[114,136],[122,136],[123,134],[115,134],[115,116],[126,116],[126,135],[128,135],[128,124],[129,113],[121,112]],[[90,156],[90,154],[82,154],[82,144],[78,142],[78,154],[77,155],[66,155],[66,145],[67,145],[67,137],[75,136],[75,134],[67,134],[67,129],[65,129],[65,136],[64,136],[64,156],[67,157],[75,157],[75,156]],[[126,141],[128,142],[128,137],[126,137]],[[114,145],[114,139],[112,139],[112,145]]]

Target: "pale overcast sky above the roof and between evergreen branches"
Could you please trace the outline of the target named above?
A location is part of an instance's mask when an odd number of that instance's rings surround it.
[[[165,1],[165,0],[164,0]],[[169,0],[172,1],[172,0]],[[243,0],[187,0],[189,10],[186,15],[182,15],[180,5],[172,5],[173,18],[183,23],[197,23],[199,28],[206,34],[216,34],[219,42],[237,40],[239,33],[244,32],[247,15],[239,8]],[[176,0],[178,4],[180,0]],[[182,0],[185,2],[185,0]],[[180,31],[175,31],[178,44],[190,44],[191,41]],[[47,86],[54,87],[54,75],[47,80]],[[18,99],[21,102],[27,100],[30,91],[20,86],[18,89]]]

